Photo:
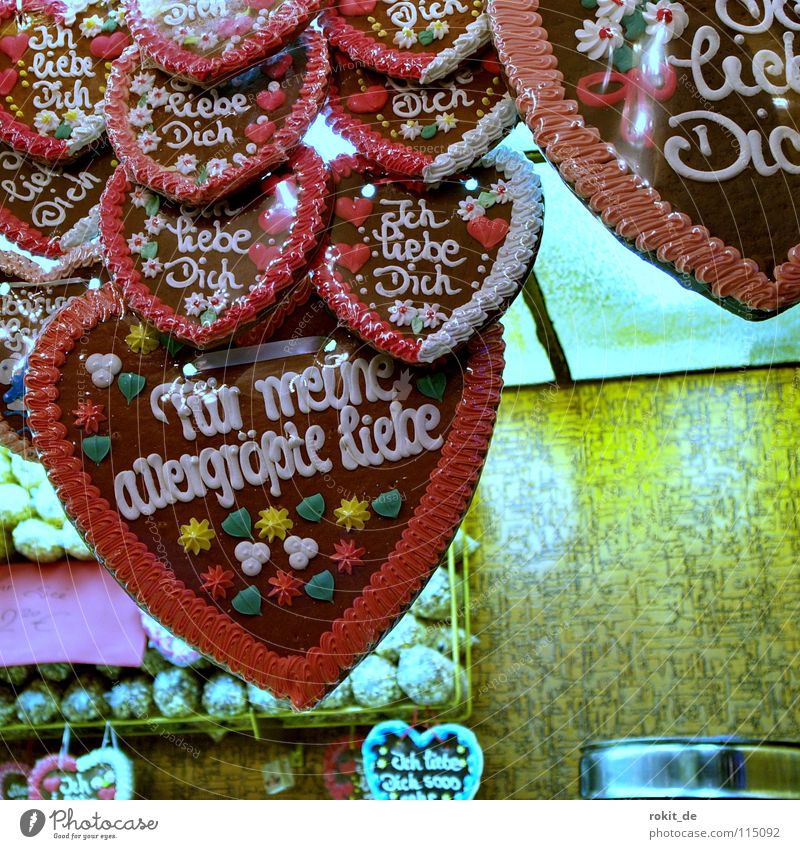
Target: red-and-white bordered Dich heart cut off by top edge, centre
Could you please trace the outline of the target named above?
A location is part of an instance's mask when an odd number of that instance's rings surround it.
[[[358,65],[423,84],[452,74],[490,37],[485,12],[460,0],[348,0],[326,9],[320,21],[331,45]]]

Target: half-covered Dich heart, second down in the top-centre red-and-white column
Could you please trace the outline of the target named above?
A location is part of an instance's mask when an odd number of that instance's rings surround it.
[[[455,73],[422,86],[337,53],[328,123],[388,171],[437,183],[477,162],[517,122],[495,59],[486,48]]]

